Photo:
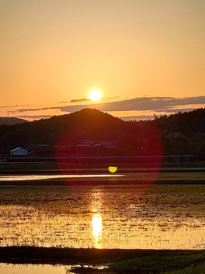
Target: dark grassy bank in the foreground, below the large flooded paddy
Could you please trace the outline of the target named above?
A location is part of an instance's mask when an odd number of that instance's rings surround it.
[[[201,264],[205,262],[205,250],[0,247],[0,262],[62,265],[111,264],[108,269],[103,270],[104,273],[156,274],[180,269],[186,271],[186,268],[192,265],[202,269],[204,266]],[[92,271],[92,269],[88,270],[83,267],[73,270],[74,273],[86,273],[86,271],[89,271],[87,273],[98,272],[98,270]],[[102,270],[100,272],[102,273]]]

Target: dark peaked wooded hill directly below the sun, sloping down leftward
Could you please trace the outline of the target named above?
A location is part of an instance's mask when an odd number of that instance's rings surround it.
[[[20,125],[1,125],[0,140],[8,149],[28,144],[56,145],[60,142],[64,145],[80,138],[111,140],[118,139],[124,125],[124,121],[110,114],[96,109],[82,109]]]

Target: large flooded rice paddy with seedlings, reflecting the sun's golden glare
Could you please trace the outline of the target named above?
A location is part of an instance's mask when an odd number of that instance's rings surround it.
[[[2,185],[0,246],[205,248],[205,185]]]

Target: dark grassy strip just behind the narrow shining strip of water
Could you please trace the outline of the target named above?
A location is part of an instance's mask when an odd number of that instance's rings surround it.
[[[0,163],[0,174],[96,174],[107,173],[109,164],[77,166],[71,163]],[[116,164],[118,173],[156,172],[155,164]],[[160,172],[205,172],[205,163],[162,163]]]

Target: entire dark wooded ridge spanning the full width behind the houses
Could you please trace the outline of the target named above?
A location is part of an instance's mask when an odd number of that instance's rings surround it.
[[[182,135],[166,138],[172,132]],[[82,109],[49,119],[0,126],[0,141],[7,152],[29,144],[64,146],[79,139],[118,140],[118,149],[113,152],[116,155],[153,155],[159,149],[159,139],[165,155],[201,155],[203,147],[205,151],[205,108],[139,122],[123,121],[96,109]]]

